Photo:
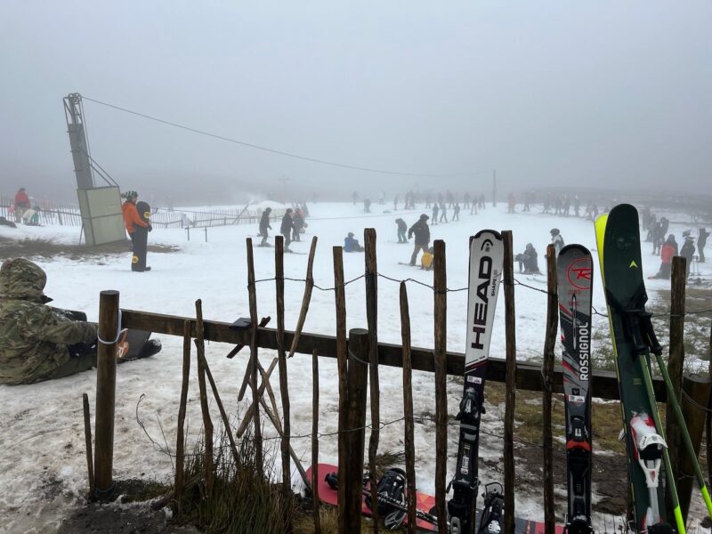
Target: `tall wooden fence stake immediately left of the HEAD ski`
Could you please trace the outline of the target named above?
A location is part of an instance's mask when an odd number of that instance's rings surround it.
[[[445,241],[433,243],[433,301],[434,301],[434,364],[435,364],[435,507],[438,532],[448,534],[448,517],[445,503],[445,477],[448,473],[448,279],[445,271]]]

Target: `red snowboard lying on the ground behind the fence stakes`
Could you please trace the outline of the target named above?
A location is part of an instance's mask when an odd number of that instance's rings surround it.
[[[312,465],[306,470],[307,479],[312,480],[314,466]],[[322,503],[332,506],[338,506],[338,491],[332,490],[328,483],[325,481],[326,476],[329,473],[338,473],[338,467],[336,465],[330,464],[319,464],[317,465],[317,484],[319,489],[319,500]],[[365,488],[368,490],[368,482]],[[421,491],[416,492],[416,508],[425,514],[435,514],[435,497],[433,495],[428,495]],[[366,505],[366,496],[363,496],[361,502],[361,512],[364,515],[370,517],[371,509]],[[475,520],[476,528],[479,528],[481,510],[477,510],[477,518]],[[408,518],[406,518],[405,523],[408,523]],[[427,522],[424,519],[417,519],[416,526],[420,530],[430,530],[437,531],[438,527],[432,522]],[[515,534],[544,534],[544,523],[536,521],[528,521],[526,519],[515,519],[514,520],[514,532]],[[555,534],[563,534],[563,527],[556,525]]]

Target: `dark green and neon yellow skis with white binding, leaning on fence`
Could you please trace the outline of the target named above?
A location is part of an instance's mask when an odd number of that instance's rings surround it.
[[[659,456],[667,473],[677,532],[684,534],[675,476],[652,389],[649,355],[651,347],[657,351],[659,345],[652,332],[651,314],[645,312],[648,295],[643,282],[639,228],[638,213],[628,204],[613,207],[610,214],[603,214],[595,221],[625,425],[628,480],[633,498],[630,527],[635,532],[673,530],[660,511],[664,508],[665,491],[659,483],[656,459]]]

